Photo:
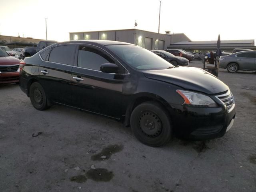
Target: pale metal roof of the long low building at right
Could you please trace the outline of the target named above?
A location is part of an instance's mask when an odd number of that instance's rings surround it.
[[[248,40],[221,40],[221,44],[254,44],[254,39]],[[217,44],[217,41],[180,41],[173,45],[192,45],[192,44]]]

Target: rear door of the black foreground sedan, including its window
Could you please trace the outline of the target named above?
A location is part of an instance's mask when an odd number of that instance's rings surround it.
[[[40,54],[43,60],[39,67],[40,83],[54,102],[72,104],[70,79],[75,50],[75,44],[66,44],[46,49]]]

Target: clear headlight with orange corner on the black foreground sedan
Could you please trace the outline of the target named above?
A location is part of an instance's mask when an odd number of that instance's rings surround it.
[[[207,106],[207,107],[216,107],[217,104],[212,100],[212,98],[199,94],[194,93],[190,91],[184,91],[184,90],[176,90],[176,92],[182,96],[184,99],[184,104],[190,104],[194,106]]]

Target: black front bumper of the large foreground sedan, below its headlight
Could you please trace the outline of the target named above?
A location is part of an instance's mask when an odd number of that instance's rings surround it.
[[[231,128],[236,115],[235,104],[231,111],[225,106],[196,108],[177,105],[170,110],[174,134],[180,138],[206,140],[223,136]]]

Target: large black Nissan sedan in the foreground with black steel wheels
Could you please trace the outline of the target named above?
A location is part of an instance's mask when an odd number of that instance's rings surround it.
[[[62,104],[123,120],[150,146],[166,144],[173,134],[223,136],[236,113],[230,89],[212,74],[174,67],[140,46],[116,41],[48,46],[20,63],[20,88],[37,110]]]

